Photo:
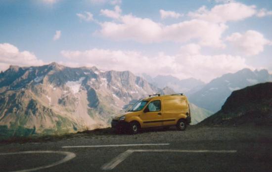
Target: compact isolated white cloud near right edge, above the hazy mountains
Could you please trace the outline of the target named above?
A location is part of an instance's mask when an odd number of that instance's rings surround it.
[[[252,30],[244,34],[233,33],[227,36],[226,40],[233,48],[247,56],[257,55],[264,51],[265,45],[272,45],[272,42],[267,40],[263,34]]]

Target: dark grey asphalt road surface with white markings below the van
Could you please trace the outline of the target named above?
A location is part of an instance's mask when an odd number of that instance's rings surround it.
[[[110,147],[63,147],[101,145]],[[272,126],[190,126],[183,132],[159,129],[132,136],[106,129],[60,138],[0,143],[0,172],[28,172],[28,169],[37,172],[270,172]]]

